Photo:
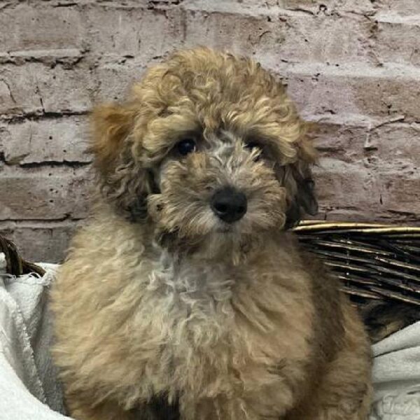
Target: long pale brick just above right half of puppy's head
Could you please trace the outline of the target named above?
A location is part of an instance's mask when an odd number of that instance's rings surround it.
[[[262,13],[262,11],[260,11]],[[265,66],[290,62],[372,61],[365,18],[291,14],[287,10],[249,15],[187,10],[186,45],[209,45],[254,55]]]

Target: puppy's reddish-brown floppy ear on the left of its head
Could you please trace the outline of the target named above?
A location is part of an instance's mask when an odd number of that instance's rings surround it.
[[[134,104],[104,104],[92,111],[94,167],[102,195],[132,221],[147,216],[153,176],[132,154]]]

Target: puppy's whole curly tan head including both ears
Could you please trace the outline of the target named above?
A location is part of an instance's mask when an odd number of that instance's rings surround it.
[[[249,59],[179,52],[93,122],[104,195],[159,235],[262,235],[317,211],[306,126],[283,85]]]

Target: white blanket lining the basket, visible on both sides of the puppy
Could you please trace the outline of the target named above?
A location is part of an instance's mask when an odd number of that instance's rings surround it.
[[[42,278],[9,276],[0,253],[0,420],[70,419],[48,352],[48,286],[57,265],[40,265]],[[375,344],[373,353],[369,420],[420,420],[420,322]]]

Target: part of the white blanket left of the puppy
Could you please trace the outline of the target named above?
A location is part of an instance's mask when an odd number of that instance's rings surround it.
[[[48,286],[56,265],[41,264],[45,275],[5,275],[0,253],[0,419],[59,420],[62,390],[48,347],[52,339]]]

